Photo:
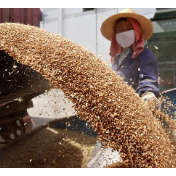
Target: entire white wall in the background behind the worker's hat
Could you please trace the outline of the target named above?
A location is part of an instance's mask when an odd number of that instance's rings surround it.
[[[98,55],[103,61],[110,64],[110,41],[106,40],[101,32],[101,24],[111,15],[119,13],[123,8],[96,8],[83,12],[83,8],[41,8],[44,20],[41,28],[61,34]],[[156,8],[132,8],[147,18],[152,18]]]

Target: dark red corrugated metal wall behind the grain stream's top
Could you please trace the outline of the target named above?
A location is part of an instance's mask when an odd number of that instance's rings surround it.
[[[40,8],[0,8],[0,23],[4,22],[40,27]]]

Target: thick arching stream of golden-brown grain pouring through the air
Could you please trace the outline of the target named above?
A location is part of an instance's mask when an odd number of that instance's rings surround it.
[[[0,24],[0,50],[62,89],[127,167],[176,167],[174,146],[159,120],[94,54],[44,29],[13,23]]]

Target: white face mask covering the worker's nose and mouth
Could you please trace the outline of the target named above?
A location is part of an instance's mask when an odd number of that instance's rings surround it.
[[[123,48],[130,47],[135,42],[134,30],[116,34],[116,40],[121,47]]]

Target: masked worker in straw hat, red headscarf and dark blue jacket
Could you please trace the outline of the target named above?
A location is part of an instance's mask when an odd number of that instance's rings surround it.
[[[112,69],[142,100],[160,97],[157,57],[144,47],[153,34],[150,20],[132,9],[123,9],[103,22],[101,33],[111,41]]]

